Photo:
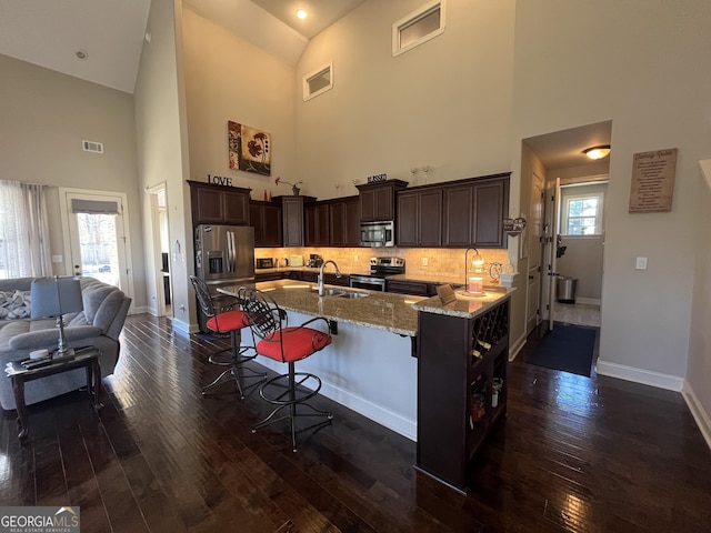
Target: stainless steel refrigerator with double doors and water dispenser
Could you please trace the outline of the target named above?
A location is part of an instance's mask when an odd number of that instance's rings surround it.
[[[221,285],[254,282],[254,228],[249,225],[201,224],[194,228],[196,275],[208,284],[219,306],[228,296]],[[209,331],[207,318],[198,305],[200,330]]]

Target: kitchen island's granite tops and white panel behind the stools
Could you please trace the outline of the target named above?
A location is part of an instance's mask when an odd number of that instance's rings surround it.
[[[312,316],[323,316],[337,324],[333,342],[297,364],[298,369],[322,380],[324,396],[417,440],[419,311],[413,304],[423,310],[439,309],[439,298],[363,290],[349,291],[368,294],[362,298],[319,296],[316,284],[293,280],[261,282],[252,286],[270,294],[288,312],[290,325],[301,324]],[[219,290],[236,294],[239,288]],[[480,301],[468,301],[465,305],[477,314],[507,295],[507,292],[491,293]],[[276,372],[284,372],[284,365],[273,360],[259,356],[257,361]]]

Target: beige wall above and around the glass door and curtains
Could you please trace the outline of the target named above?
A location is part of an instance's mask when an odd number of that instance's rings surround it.
[[[133,260],[133,306],[146,305],[133,97],[0,56],[0,179],[51,185],[51,253],[63,249],[58,187],[126,193]],[[103,154],[81,141],[103,142]],[[57,274],[67,274],[61,263]]]

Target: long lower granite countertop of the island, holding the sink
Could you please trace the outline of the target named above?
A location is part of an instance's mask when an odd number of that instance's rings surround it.
[[[319,298],[316,284],[294,280],[264,281],[251,286],[267,292],[279,306],[287,311],[375,328],[405,336],[415,336],[418,333],[418,312],[412,304],[425,300],[422,296],[346,289],[328,284],[327,288],[367,292],[369,295],[352,299],[329,295]],[[229,294],[236,293],[238,289],[238,286],[222,286],[219,291]]]

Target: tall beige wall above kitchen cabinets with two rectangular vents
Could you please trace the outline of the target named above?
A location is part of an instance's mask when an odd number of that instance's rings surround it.
[[[307,46],[297,163],[310,194],[356,194],[353,180],[379,173],[410,181],[423,164],[429,182],[509,170],[513,1],[448,0],[444,33],[393,58],[392,23],[422,3],[367,1]],[[330,61],[333,89],[304,102],[302,78]]]

